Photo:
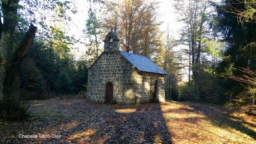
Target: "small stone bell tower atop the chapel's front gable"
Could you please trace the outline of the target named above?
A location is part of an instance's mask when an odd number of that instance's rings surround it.
[[[104,42],[104,51],[119,51],[119,39],[113,29],[106,35]]]

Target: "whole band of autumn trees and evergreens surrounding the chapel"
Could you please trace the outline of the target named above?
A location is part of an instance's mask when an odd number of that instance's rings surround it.
[[[1,118],[23,115],[24,100],[86,98],[88,68],[110,28],[122,51],[168,72],[166,99],[255,104],[253,1],[173,1],[179,38],[159,28],[158,1],[87,2],[83,41],[67,33],[75,1],[1,1]],[[75,44],[86,49],[79,58]]]

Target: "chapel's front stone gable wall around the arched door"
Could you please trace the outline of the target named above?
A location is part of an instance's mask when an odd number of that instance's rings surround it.
[[[116,102],[132,102],[134,98],[125,98],[123,93],[132,88],[131,67],[120,56],[118,51],[102,52],[100,58],[88,70],[87,99],[105,102],[106,83],[113,83],[113,100]]]

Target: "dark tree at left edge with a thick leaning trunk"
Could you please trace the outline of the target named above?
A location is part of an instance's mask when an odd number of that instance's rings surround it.
[[[18,106],[20,63],[28,51],[37,30],[37,28],[31,24],[36,22],[36,15],[34,12],[40,13],[40,11],[36,11],[37,8],[52,10],[56,6],[59,6],[58,12],[60,12],[60,15],[67,17],[65,8],[70,9],[70,7],[68,7],[68,3],[70,2],[67,1],[63,3],[59,1],[54,3],[52,3],[52,1],[44,1],[44,3],[40,3],[40,0],[25,1],[24,3],[27,5],[24,9],[22,9],[23,6],[20,5],[19,2],[19,0],[0,1],[0,15],[3,17],[3,21],[2,19],[0,20],[0,101],[5,104],[4,108],[7,110],[17,109],[12,107]],[[42,6],[43,4],[44,6]],[[28,17],[26,16],[28,15],[30,16],[30,19],[27,19]],[[42,19],[38,24],[41,24],[41,26],[44,27],[45,15],[41,16]],[[29,23],[30,26],[28,26]],[[15,42],[15,33],[17,31],[24,33],[26,29],[28,29],[28,31],[25,33],[24,37],[21,38],[22,40],[20,44]],[[13,114],[8,113],[8,115]]]

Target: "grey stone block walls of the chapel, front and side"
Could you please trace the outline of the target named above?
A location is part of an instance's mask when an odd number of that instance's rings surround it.
[[[164,77],[138,72],[122,58],[119,51],[102,52],[88,70],[87,99],[105,102],[106,83],[113,83],[113,100],[118,103],[148,102],[152,84],[157,81],[157,99],[164,100]]]

